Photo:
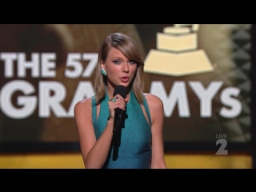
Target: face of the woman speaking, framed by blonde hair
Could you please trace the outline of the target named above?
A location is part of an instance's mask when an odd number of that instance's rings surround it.
[[[106,70],[108,86],[129,86],[133,81],[137,64],[126,58],[122,52],[114,47],[111,48],[106,62],[102,63],[102,68]]]

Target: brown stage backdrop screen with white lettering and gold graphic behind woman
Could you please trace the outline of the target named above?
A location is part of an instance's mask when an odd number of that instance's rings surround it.
[[[250,24],[0,25],[0,150],[79,150],[102,38],[130,35],[164,104],[165,150],[249,150]]]

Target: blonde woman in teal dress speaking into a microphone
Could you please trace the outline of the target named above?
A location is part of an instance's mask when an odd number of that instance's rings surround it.
[[[166,168],[162,139],[163,104],[143,94],[144,62],[134,39],[114,33],[98,52],[96,94],[74,106],[82,158],[86,168]],[[125,86],[126,95],[114,94]],[[122,122],[114,132],[115,109]]]

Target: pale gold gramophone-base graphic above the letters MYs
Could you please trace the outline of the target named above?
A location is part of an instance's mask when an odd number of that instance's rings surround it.
[[[174,24],[157,33],[157,50],[147,54],[145,72],[183,76],[213,71],[206,52],[197,50],[198,29],[199,24]]]

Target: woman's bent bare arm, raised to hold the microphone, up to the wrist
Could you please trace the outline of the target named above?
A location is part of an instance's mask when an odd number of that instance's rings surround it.
[[[91,111],[91,98],[86,98],[74,106],[74,119],[86,168],[102,168],[110,150],[114,118],[109,118],[105,130],[96,141]]]

